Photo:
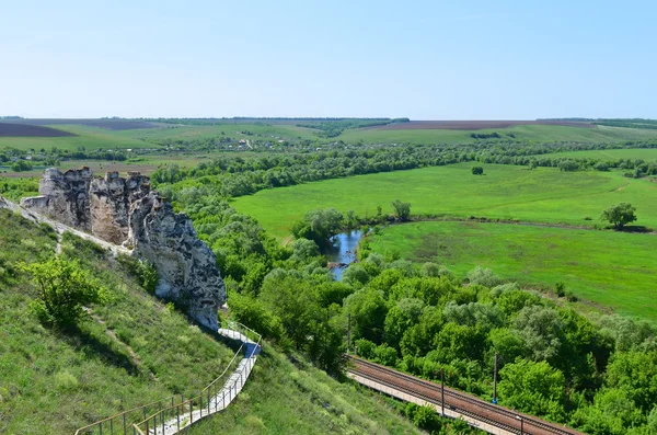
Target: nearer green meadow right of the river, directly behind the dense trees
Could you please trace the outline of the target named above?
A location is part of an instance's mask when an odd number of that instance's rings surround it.
[[[512,224],[412,222],[370,236],[372,252],[475,266],[521,285],[566,284],[580,298],[657,322],[657,236]]]

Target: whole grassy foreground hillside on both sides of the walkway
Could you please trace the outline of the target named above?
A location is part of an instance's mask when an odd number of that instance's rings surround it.
[[[79,328],[42,325],[28,308],[35,288],[16,265],[50,255],[56,242],[48,227],[0,209],[1,433],[70,435],[124,409],[197,392],[221,373],[233,351],[72,236],[65,234],[62,255],[79,259],[111,300],[90,307]],[[378,396],[293,360],[266,345],[238,401],[191,433],[417,433]]]

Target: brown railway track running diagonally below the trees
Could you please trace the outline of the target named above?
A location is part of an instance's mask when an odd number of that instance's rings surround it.
[[[349,359],[350,364],[347,371],[354,375],[413,396],[434,405],[442,405],[442,389],[439,385],[361,358],[351,356]],[[522,428],[522,434],[527,435],[585,435],[569,427],[515,412],[451,388],[445,388],[443,393],[446,410],[458,412],[511,434],[520,434]]]

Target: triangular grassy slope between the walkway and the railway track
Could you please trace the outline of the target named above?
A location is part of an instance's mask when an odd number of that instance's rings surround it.
[[[341,384],[300,359],[265,347],[244,390],[220,415],[193,426],[206,434],[416,434],[395,403]]]

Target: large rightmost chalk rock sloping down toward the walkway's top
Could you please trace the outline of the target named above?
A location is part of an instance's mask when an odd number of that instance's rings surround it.
[[[216,330],[226,287],[215,253],[196,237],[192,220],[174,214],[171,204],[152,192],[135,204],[128,243],[139,257],[155,265],[158,296],[178,300],[201,324]]]

